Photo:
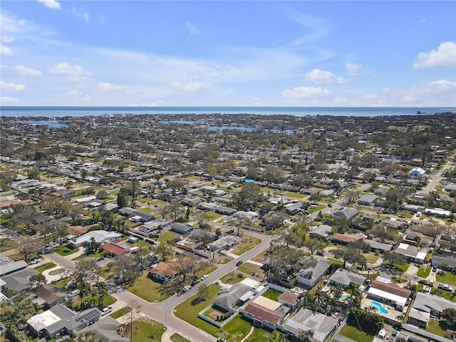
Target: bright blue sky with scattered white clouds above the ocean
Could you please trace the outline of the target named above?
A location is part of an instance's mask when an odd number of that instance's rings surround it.
[[[456,107],[456,1],[0,8],[1,105]]]

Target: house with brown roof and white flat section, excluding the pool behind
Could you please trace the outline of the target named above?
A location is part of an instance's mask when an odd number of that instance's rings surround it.
[[[368,298],[394,306],[399,311],[404,309],[411,294],[412,291],[403,289],[397,284],[378,280],[372,281],[371,287],[368,289]]]

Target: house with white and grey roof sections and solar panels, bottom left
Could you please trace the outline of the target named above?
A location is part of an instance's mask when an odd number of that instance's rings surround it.
[[[73,336],[77,331],[98,321],[100,315],[100,310],[97,308],[78,313],[63,304],[58,304],[48,311],[31,316],[27,323],[36,336],[56,338],[61,335]]]

